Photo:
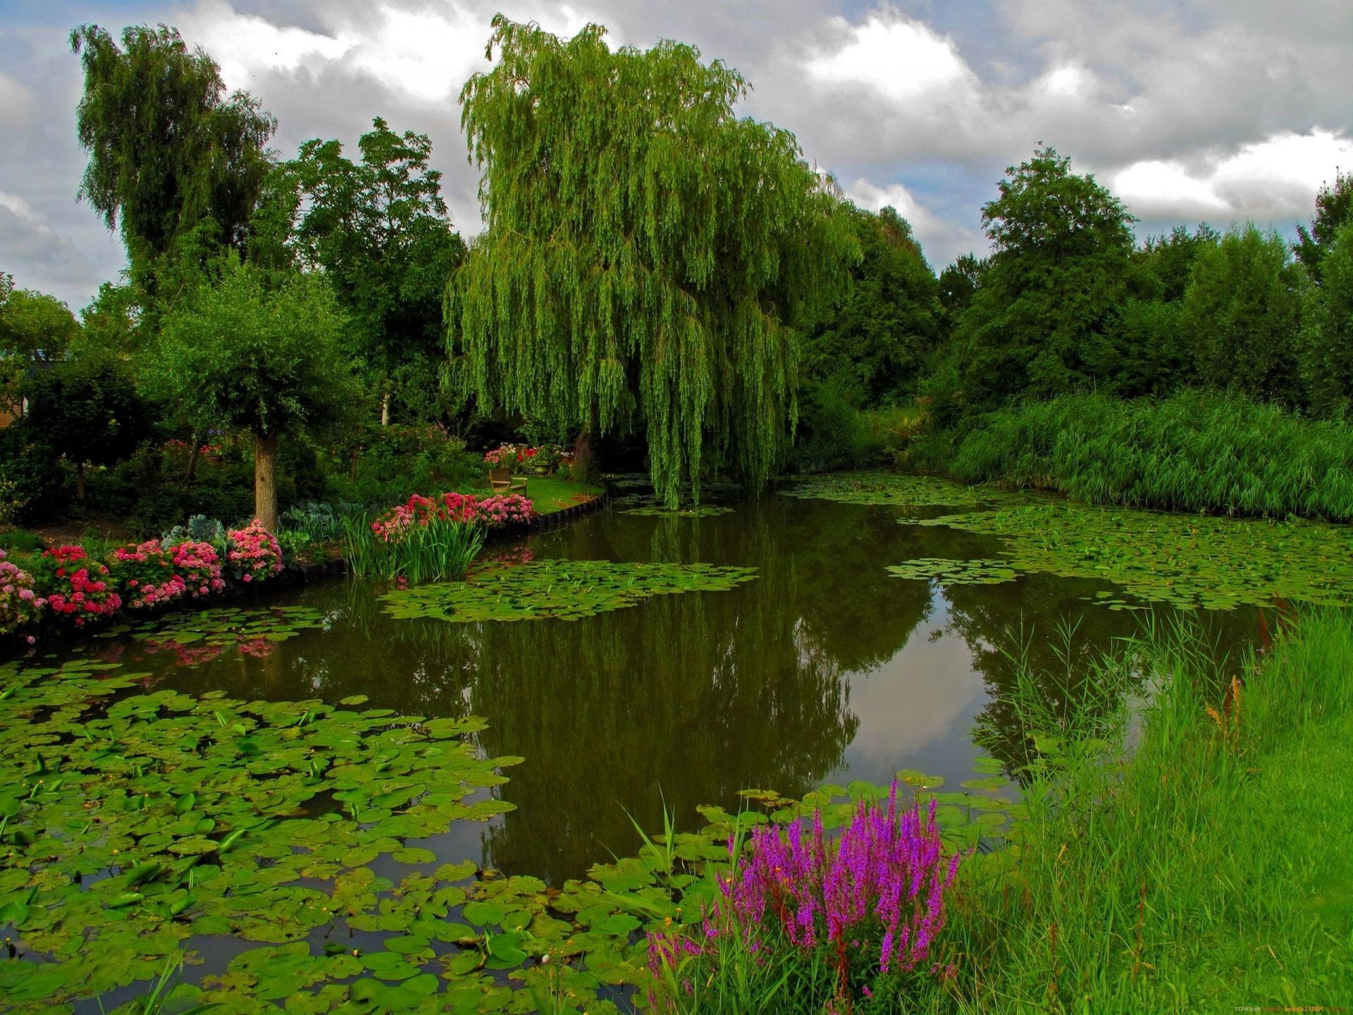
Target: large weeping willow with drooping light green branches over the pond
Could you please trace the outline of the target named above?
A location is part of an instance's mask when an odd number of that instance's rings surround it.
[[[789,131],[733,115],[747,83],[693,46],[612,50],[494,18],[461,92],[487,229],[448,288],[487,411],[647,437],[670,505],[764,483],[797,417],[797,329],[859,250]]]

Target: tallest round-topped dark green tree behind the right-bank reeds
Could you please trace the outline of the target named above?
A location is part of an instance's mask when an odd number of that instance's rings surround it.
[[[1095,383],[1134,245],[1118,198],[1054,149],[1005,172],[982,208],[993,253],[951,344],[977,406]]]

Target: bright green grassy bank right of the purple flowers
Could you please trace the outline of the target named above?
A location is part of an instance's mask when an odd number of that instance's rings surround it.
[[[1353,1004],[1353,617],[1304,617],[1234,685],[1195,635],[1147,652],[1130,757],[1126,712],[1104,748],[1092,710],[1019,696],[1063,746],[1026,788],[1017,850],[970,869],[935,1010]]]

